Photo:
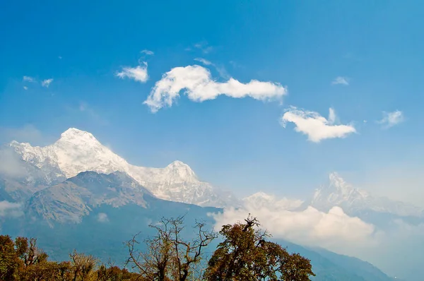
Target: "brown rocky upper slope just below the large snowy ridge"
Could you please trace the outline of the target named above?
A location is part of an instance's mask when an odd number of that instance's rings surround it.
[[[49,222],[81,222],[100,205],[135,204],[146,208],[145,196],[153,196],[122,172],[81,172],[66,181],[37,191],[25,204],[25,214]]]

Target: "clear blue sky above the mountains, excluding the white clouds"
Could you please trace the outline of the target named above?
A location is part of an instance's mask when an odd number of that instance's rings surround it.
[[[0,141],[44,145],[76,127],[132,164],[182,160],[241,196],[305,196],[338,171],[424,205],[422,14],[421,1],[4,1]],[[146,83],[117,77],[141,61]],[[218,83],[255,79],[288,94],[282,104],[181,95],[156,113],[143,104],[164,73],[194,64]],[[331,107],[330,126],[356,132],[310,141],[281,126],[290,106],[326,119]],[[376,123],[396,110],[399,124]]]

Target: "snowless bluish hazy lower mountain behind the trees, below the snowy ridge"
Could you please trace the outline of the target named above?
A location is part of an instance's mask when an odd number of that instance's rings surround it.
[[[69,251],[76,249],[98,256],[102,261],[112,258],[122,265],[127,257],[123,242],[139,232],[138,239],[143,241],[153,234],[148,225],[161,217],[185,215],[187,228],[183,234],[190,239],[193,235],[190,226],[195,220],[203,220],[212,227],[215,222],[208,214],[222,211],[155,198],[122,172],[81,172],[60,184],[37,191],[25,205],[24,215],[5,220],[0,233],[37,237],[40,246],[55,260],[68,258]],[[218,242],[215,241],[206,252],[211,253]],[[278,242],[288,246],[289,251],[311,259],[317,274],[313,280],[391,280],[377,268],[358,259],[343,256],[346,263],[341,265],[336,253],[324,256],[314,249],[287,241]]]

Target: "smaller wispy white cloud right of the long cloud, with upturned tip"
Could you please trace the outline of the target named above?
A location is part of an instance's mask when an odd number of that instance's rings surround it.
[[[345,138],[356,130],[352,125],[335,125],[336,114],[334,109],[329,110],[329,119],[325,119],[317,112],[309,112],[296,107],[290,107],[281,117],[281,125],[287,122],[295,124],[295,131],[307,135],[308,140],[319,143],[327,138]]]

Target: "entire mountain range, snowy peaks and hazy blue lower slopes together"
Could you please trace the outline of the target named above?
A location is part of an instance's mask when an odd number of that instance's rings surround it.
[[[266,193],[239,201],[199,180],[182,162],[165,168],[134,166],[91,133],[76,128],[69,128],[57,142],[43,148],[16,141],[2,146],[0,201],[19,203],[24,214],[0,216],[0,232],[38,237],[41,246],[57,259],[78,249],[123,261],[122,242],[139,231],[147,237],[151,234],[148,224],[162,216],[186,214],[187,220],[197,218],[213,225],[208,213],[242,204],[278,210],[312,205],[323,211],[338,205],[349,215],[370,220],[370,214],[376,213],[418,219],[423,215],[419,208],[354,189],[335,173],[330,174],[329,185],[307,201],[277,199]],[[282,243],[311,258],[319,272],[315,280],[391,280],[356,258]]]

